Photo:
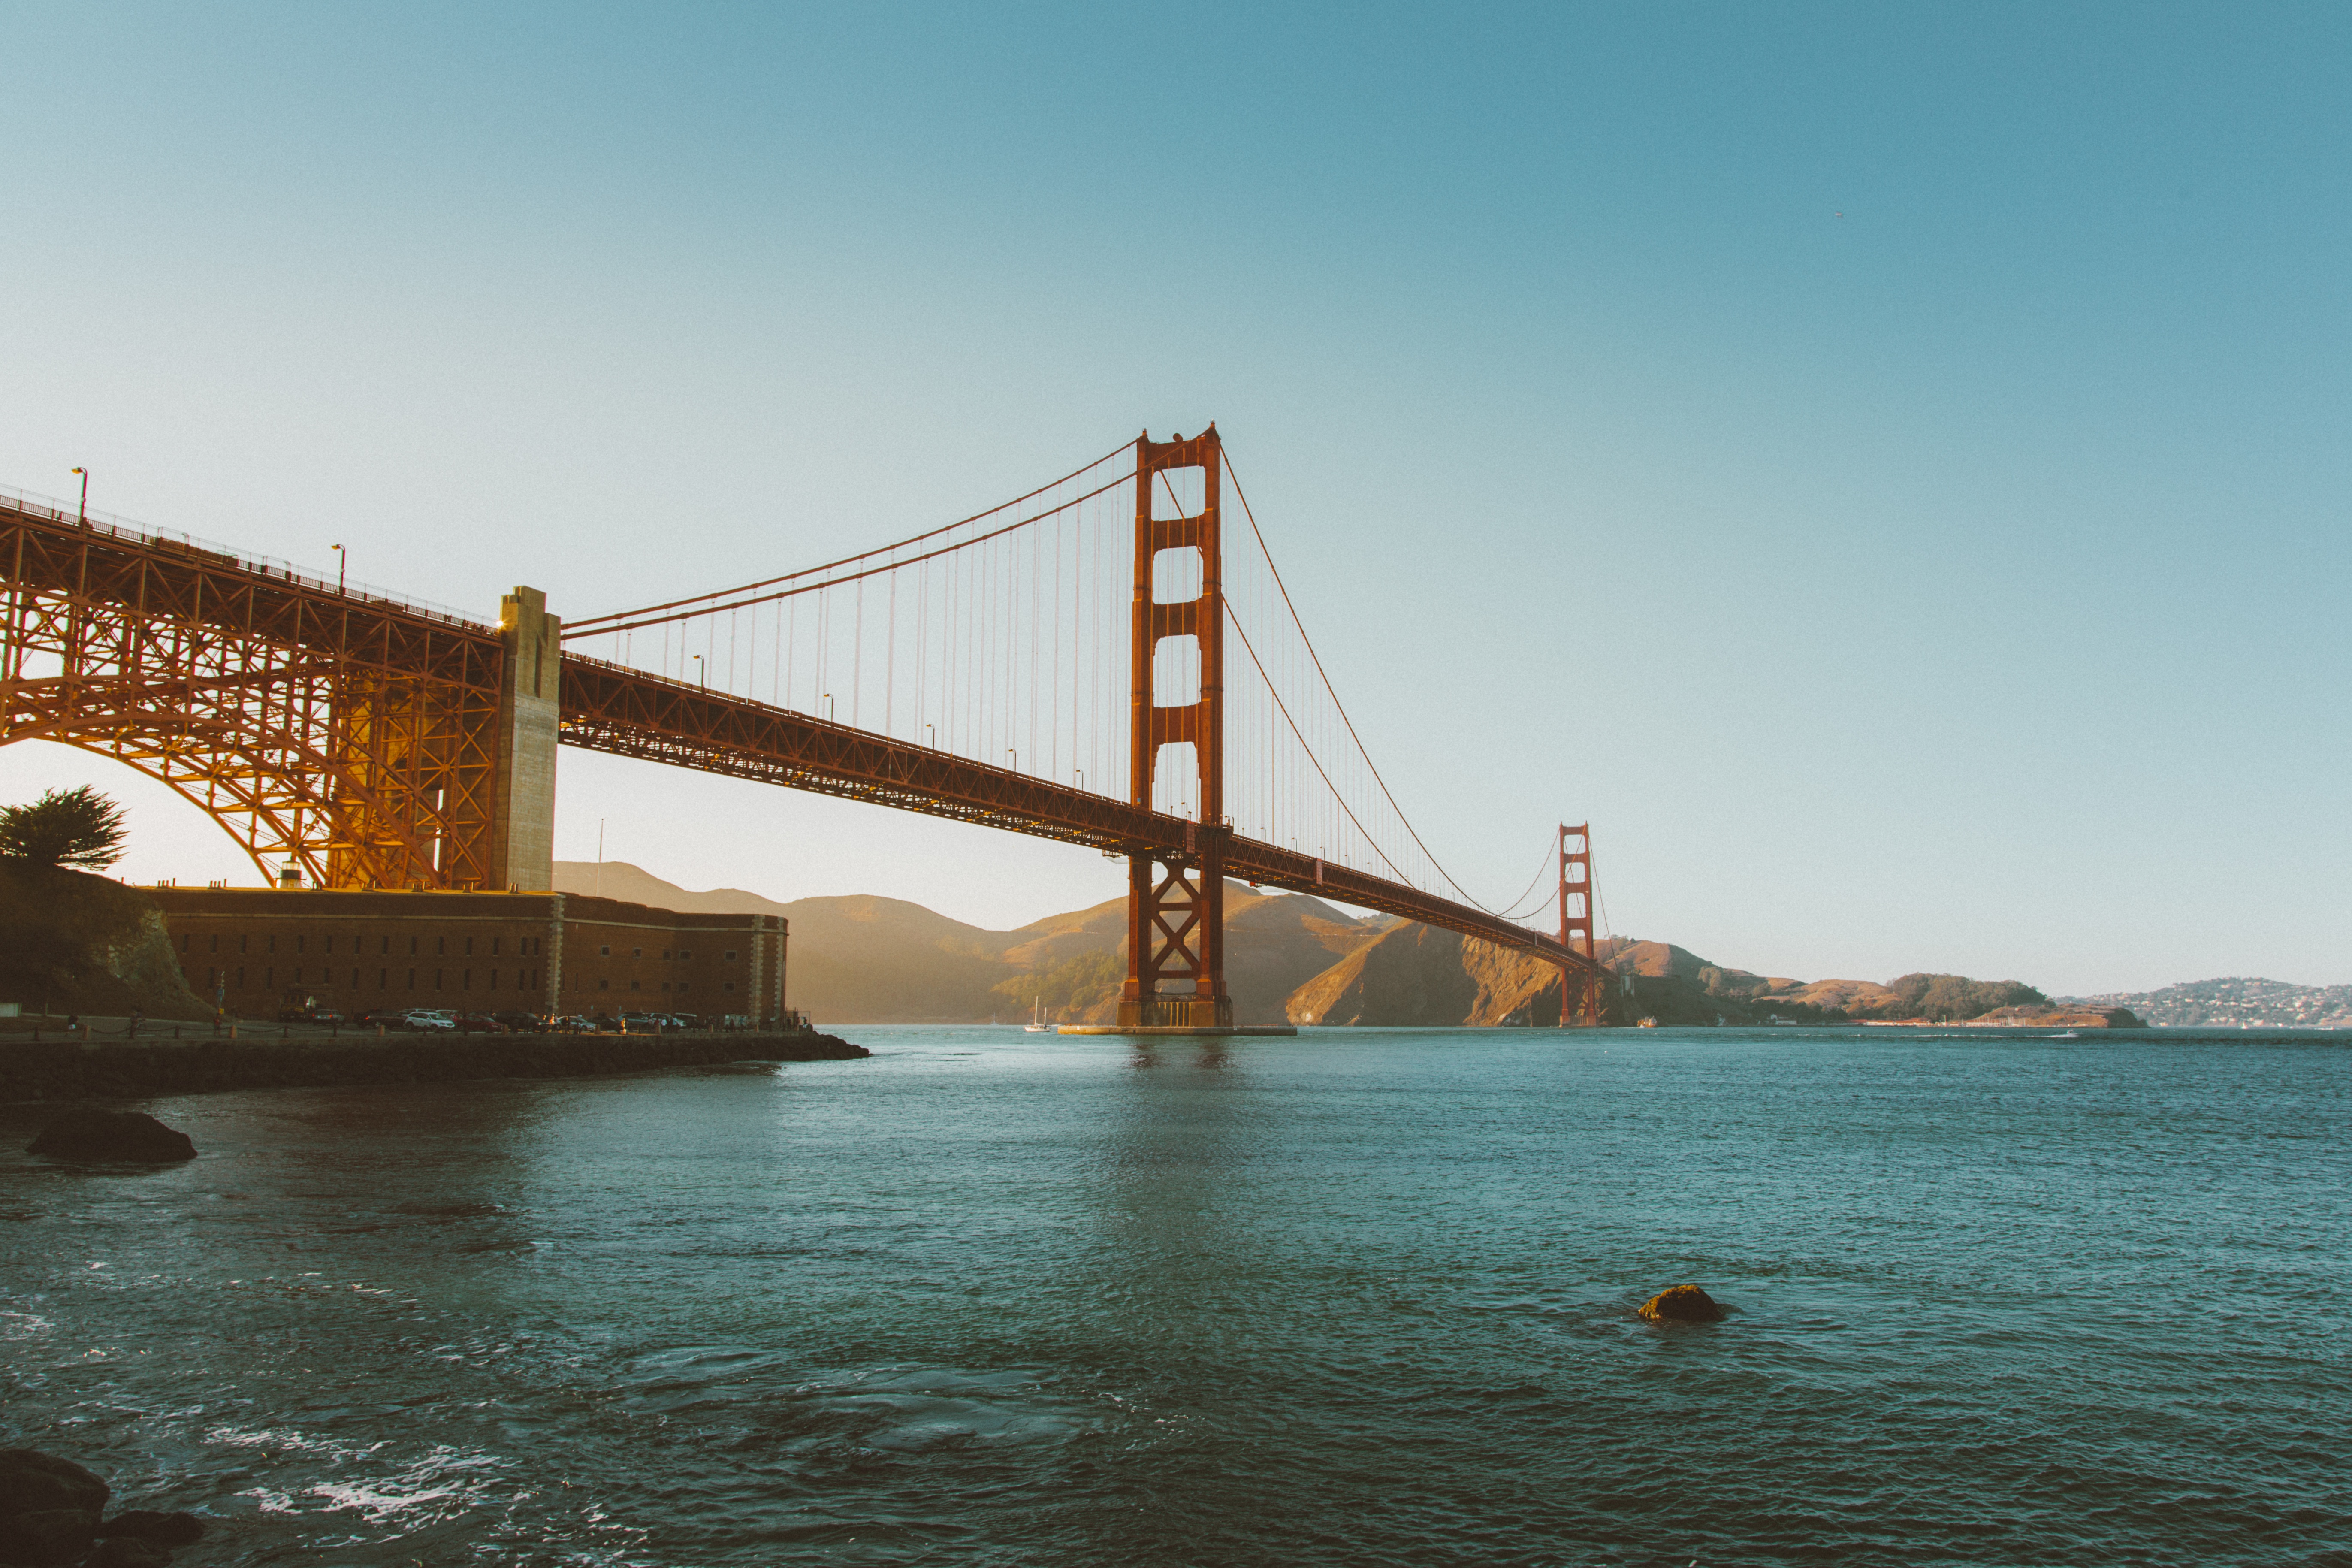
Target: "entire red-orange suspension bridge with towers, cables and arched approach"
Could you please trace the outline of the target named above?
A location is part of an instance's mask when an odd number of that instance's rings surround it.
[[[818,567],[572,623],[532,588],[492,628],[28,496],[0,496],[0,745],[115,757],[266,877],[546,889],[555,750],[579,745],[1127,860],[1127,1030],[1232,1027],[1228,877],[1536,954],[1562,971],[1559,1020],[1599,1023],[1588,827],[1559,827],[1498,907],[1439,865],[1216,425]],[[1555,931],[1522,924],[1543,905]]]

